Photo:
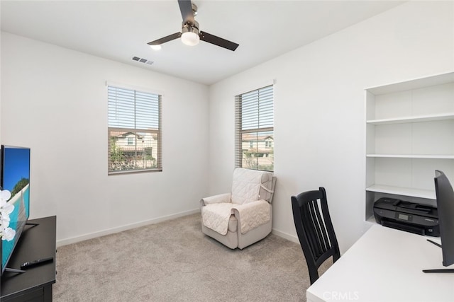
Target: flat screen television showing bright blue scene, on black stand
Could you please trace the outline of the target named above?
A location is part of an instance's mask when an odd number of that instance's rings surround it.
[[[30,149],[1,146],[0,186],[11,192],[9,203],[14,210],[9,214],[9,227],[16,231],[10,241],[1,240],[1,274],[4,273],[23,228],[30,216]]]

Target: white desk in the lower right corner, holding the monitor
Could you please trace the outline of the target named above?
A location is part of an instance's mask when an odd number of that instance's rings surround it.
[[[428,237],[373,225],[306,291],[307,301],[454,301],[454,274]],[[432,238],[440,243],[440,238]]]

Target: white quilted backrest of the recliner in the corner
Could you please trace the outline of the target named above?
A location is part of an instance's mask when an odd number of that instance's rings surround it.
[[[233,171],[232,196],[234,204],[245,204],[264,199],[271,202],[273,190],[272,173],[236,168]]]

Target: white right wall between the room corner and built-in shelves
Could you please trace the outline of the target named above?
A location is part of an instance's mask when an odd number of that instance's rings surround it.
[[[216,83],[209,192],[234,168],[233,95],[275,79],[273,231],[297,240],[290,197],[323,186],[345,251],[367,229],[364,89],[453,70],[454,2],[414,1]]]

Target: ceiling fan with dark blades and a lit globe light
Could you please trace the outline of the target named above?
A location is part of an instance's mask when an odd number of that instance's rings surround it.
[[[175,40],[179,37],[182,38],[182,42],[184,44],[189,46],[199,44],[200,40],[231,51],[235,51],[236,47],[239,46],[237,43],[225,40],[221,37],[216,37],[216,35],[211,35],[210,33],[206,33],[204,31],[200,31],[199,23],[194,20],[194,16],[197,14],[197,6],[192,4],[190,0],[178,0],[178,4],[183,18],[181,33],[173,33],[172,35],[167,35],[166,37],[161,37],[160,39],[148,42],[147,44],[150,45],[150,47],[159,49],[160,45],[163,43]]]

